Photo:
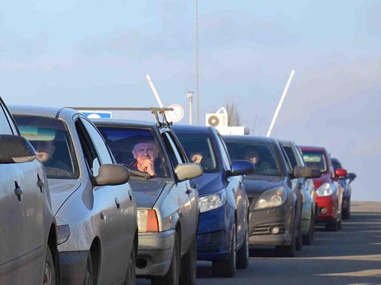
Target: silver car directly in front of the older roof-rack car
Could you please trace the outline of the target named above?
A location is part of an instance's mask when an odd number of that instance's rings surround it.
[[[134,284],[138,237],[128,169],[73,109],[11,111],[47,173],[64,284]]]

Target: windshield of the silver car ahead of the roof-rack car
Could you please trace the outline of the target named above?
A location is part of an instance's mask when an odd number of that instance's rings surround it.
[[[48,178],[76,179],[77,160],[65,123],[59,119],[14,115],[20,133],[36,149]]]

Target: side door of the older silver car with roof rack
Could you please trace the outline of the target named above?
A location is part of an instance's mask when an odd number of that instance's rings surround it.
[[[174,139],[173,134],[166,131],[162,133],[163,140],[166,144],[169,158],[173,169],[176,168],[178,164],[185,163],[184,157],[179,153],[179,146]],[[175,190],[178,193],[178,203],[181,213],[181,223],[182,223],[182,248],[189,248],[192,238],[194,238],[194,233],[196,232],[196,223],[198,216],[197,211],[195,211],[196,203],[196,190],[191,188],[190,181],[176,181]]]

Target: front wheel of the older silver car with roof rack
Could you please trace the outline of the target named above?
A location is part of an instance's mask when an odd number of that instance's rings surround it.
[[[180,241],[175,235],[175,244],[173,245],[173,253],[171,265],[165,276],[153,277],[151,285],[179,285],[180,277]]]

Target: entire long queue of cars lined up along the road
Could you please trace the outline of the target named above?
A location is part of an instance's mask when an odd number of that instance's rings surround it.
[[[172,126],[163,108],[0,106],[0,284],[194,285],[197,260],[233,277],[251,245],[292,257],[350,215],[356,175],[325,148]]]

